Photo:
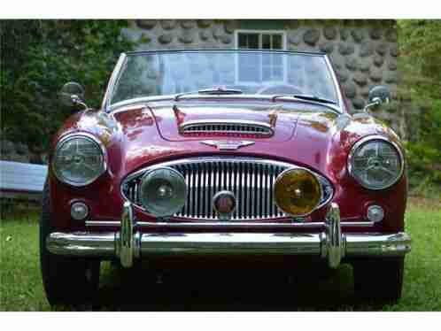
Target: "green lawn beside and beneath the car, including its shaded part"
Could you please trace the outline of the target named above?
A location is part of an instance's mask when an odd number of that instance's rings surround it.
[[[37,212],[2,219],[0,311],[51,310],[43,293],[37,221]],[[346,265],[330,279],[306,276],[288,284],[271,273],[248,277],[235,270],[168,274],[162,281],[151,281],[145,271],[127,274],[104,263],[97,302],[81,310],[441,311],[439,200],[411,199],[406,231],[412,235],[413,247],[406,258],[403,297],[398,304],[357,303],[352,293],[352,268]]]

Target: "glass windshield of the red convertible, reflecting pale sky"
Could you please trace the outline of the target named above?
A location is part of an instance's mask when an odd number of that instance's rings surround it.
[[[220,88],[244,95],[308,95],[338,104],[324,56],[255,50],[129,53],[111,91],[110,104]]]

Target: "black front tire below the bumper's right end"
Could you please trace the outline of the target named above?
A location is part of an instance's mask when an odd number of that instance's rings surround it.
[[[360,300],[395,303],[401,297],[404,258],[367,258],[354,261],[355,296]]]

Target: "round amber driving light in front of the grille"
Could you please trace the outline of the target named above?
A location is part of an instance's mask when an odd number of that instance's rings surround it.
[[[320,199],[320,182],[306,169],[287,169],[275,180],[275,204],[291,216],[313,212]]]

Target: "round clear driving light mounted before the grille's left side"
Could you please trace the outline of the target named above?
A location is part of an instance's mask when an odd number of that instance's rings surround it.
[[[143,175],[139,196],[147,212],[156,217],[168,217],[181,211],[187,200],[187,185],[181,173],[170,167],[160,167]]]

